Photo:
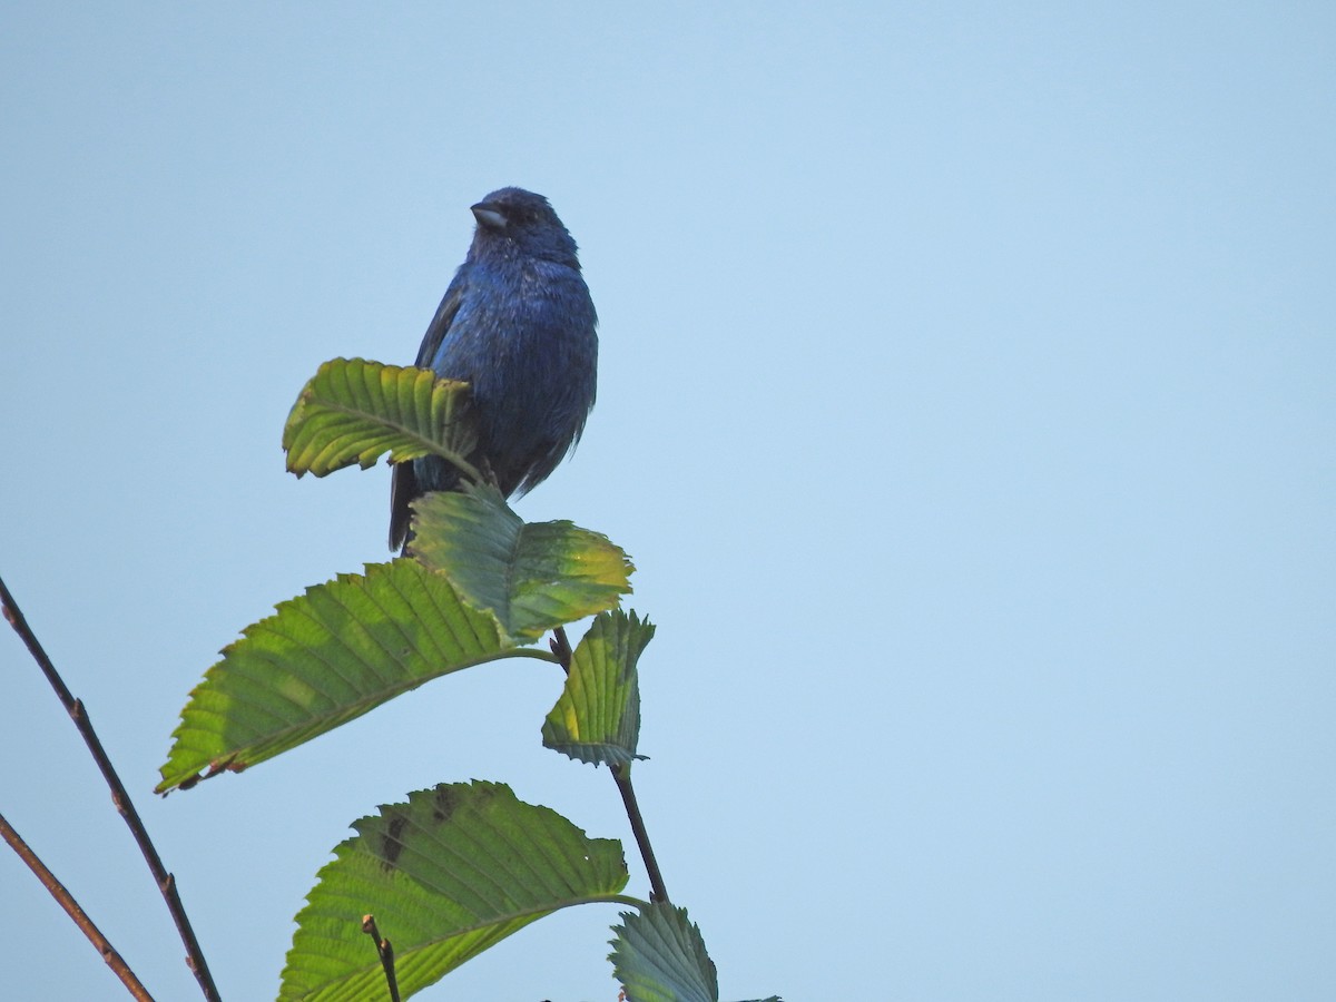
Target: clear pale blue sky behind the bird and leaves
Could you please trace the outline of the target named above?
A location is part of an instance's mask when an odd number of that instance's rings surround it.
[[[411,790],[629,839],[529,661],[150,794],[220,647],[389,558],[387,470],[297,481],[283,421],[414,358],[502,184],[601,315],[517,510],[639,568],[637,786],[725,999],[1336,997],[1333,52],[1329,3],[5,4],[0,574],[224,997]],[[0,811],[194,995],[12,636]],[[422,998],[611,1002],[615,921]],[[122,997],[8,854],[0,997]]]

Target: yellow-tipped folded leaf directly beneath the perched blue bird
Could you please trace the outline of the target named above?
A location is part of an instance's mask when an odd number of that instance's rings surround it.
[[[449,577],[516,640],[615,608],[635,569],[607,536],[566,521],[524,522],[496,488],[415,501],[413,556]]]

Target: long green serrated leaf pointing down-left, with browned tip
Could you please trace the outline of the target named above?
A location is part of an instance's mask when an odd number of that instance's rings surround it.
[[[158,792],[242,770],[430,679],[516,651],[496,617],[415,560],[370,564],[278,605],[191,692]]]

